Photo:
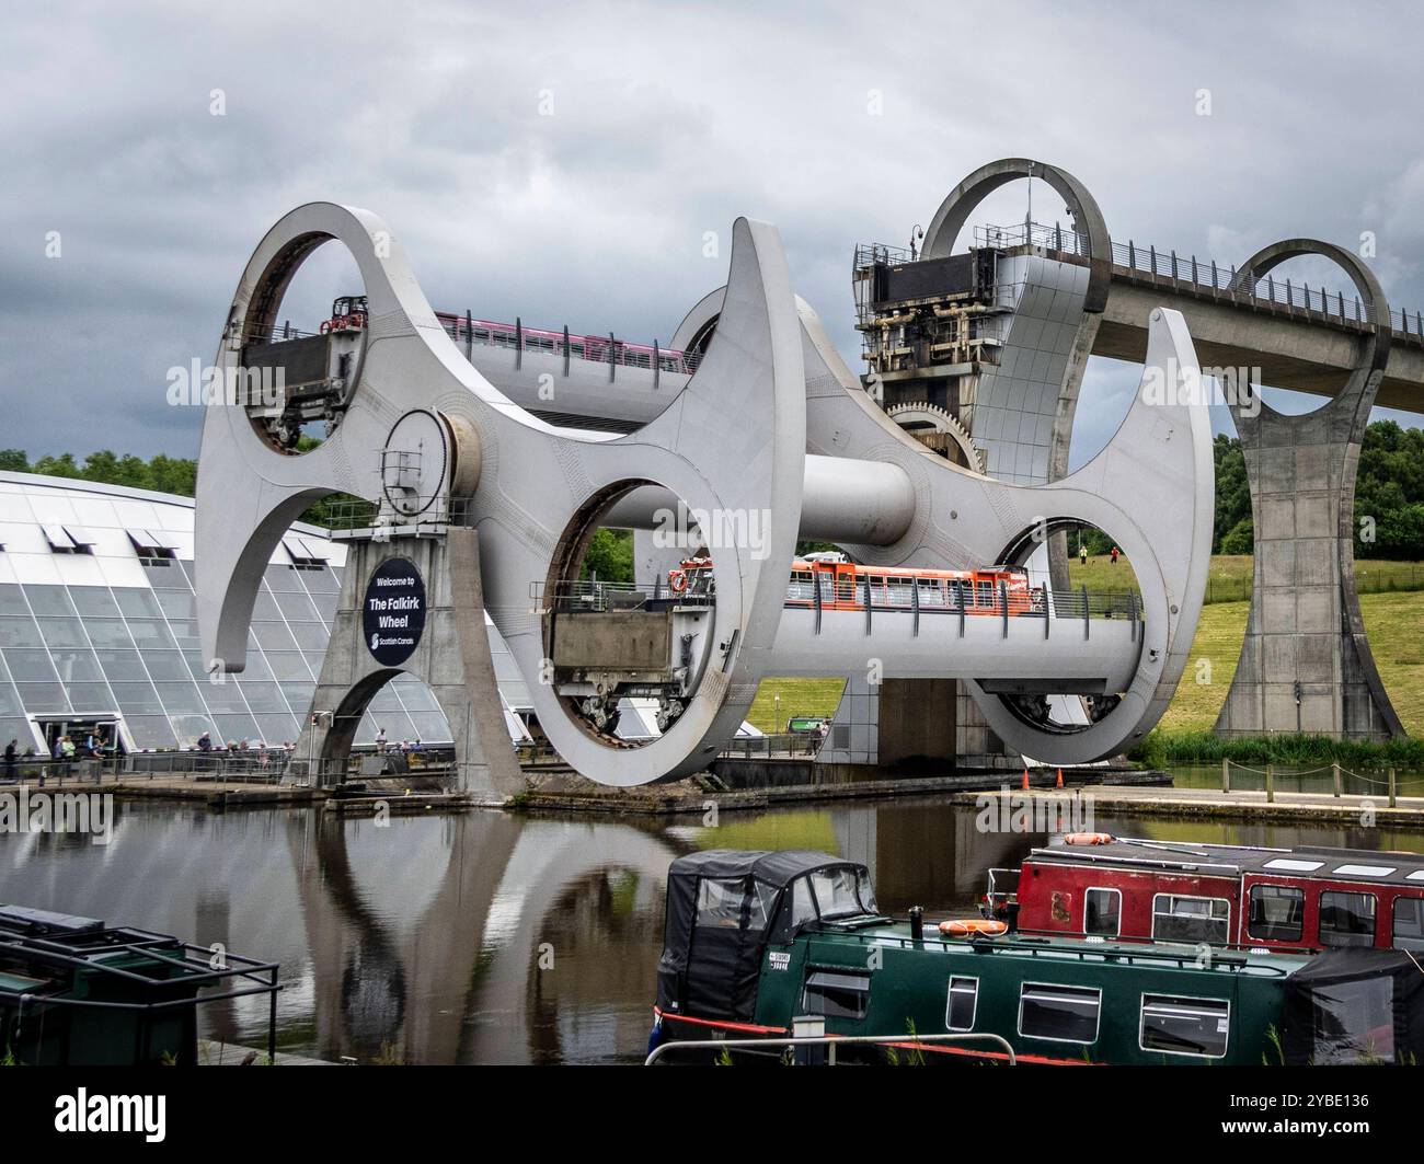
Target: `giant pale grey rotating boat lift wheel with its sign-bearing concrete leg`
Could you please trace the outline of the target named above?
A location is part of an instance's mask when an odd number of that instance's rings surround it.
[[[276,327],[282,295],[330,240],[355,258],[365,299],[292,339]],[[1151,313],[1142,388],[1109,444],[1031,482],[956,464],[887,416],[796,296],[766,223],[735,223],[725,286],[668,351],[632,359],[612,337],[600,349],[520,326],[490,343],[491,327],[437,314],[399,239],[349,206],[292,211],[241,276],[218,353],[236,391],[208,408],[198,472],[199,622],[215,669],[244,669],[262,573],[292,521],[333,494],[369,504],[298,756],[343,760],[366,703],[409,672],[450,721],[460,787],[521,787],[486,615],[553,747],[611,785],[706,768],[772,674],[958,682],[1007,750],[1055,764],[1118,754],[1166,709],[1213,514],[1206,411],[1162,391],[1162,377],[1198,369],[1178,312]],[[276,394],[252,374],[273,366]],[[1040,383],[1058,376],[1061,388],[1057,369]],[[313,420],[326,438],[302,451]],[[1025,475],[1059,467],[1045,458]],[[712,585],[681,593],[654,578],[611,598],[580,582],[597,528],[665,532],[669,514],[709,551]],[[857,600],[819,582],[797,591],[792,575],[799,539],[870,566],[978,571],[1022,566],[1081,524],[1111,531],[1141,598],[1119,608],[1047,583],[1011,599],[1000,583],[977,603],[960,586],[921,596],[910,576],[903,600],[883,603],[869,582]],[[611,731],[600,709],[618,692],[655,696],[661,734]],[[1078,713],[1055,713],[1062,702]]]

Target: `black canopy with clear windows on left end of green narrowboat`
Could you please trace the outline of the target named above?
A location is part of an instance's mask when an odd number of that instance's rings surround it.
[[[668,867],[658,1006],[749,1020],[768,941],[819,918],[876,914],[864,865],[813,850],[708,850]]]

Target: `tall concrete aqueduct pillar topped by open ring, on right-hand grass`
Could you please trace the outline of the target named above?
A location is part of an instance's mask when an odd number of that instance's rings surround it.
[[[1381,740],[1404,729],[1370,655],[1354,592],[1354,475],[1388,360],[1388,306],[1354,255],[1307,239],[1266,248],[1240,277],[1259,277],[1303,253],[1339,262],[1383,326],[1361,340],[1360,364],[1340,396],[1316,411],[1284,416],[1259,394],[1232,404],[1256,558],[1246,639],[1216,733]]]

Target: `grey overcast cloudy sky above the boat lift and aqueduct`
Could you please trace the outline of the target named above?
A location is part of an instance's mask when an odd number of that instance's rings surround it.
[[[380,213],[436,307],[644,342],[722,282],[705,232],[762,218],[853,367],[854,245],[904,245],[1010,155],[1078,175],[1116,240],[1227,265],[1374,232],[1391,303],[1424,307],[1421,24],[1383,3],[7,6],[0,447],[194,455],[167,370],[212,360],[253,245],[313,199]],[[1034,211],[1064,218],[1042,184]],[[1022,213],[1015,184],[981,218]],[[303,272],[293,323],[346,289],[339,259]],[[1075,462],[1136,379],[1094,360]]]

